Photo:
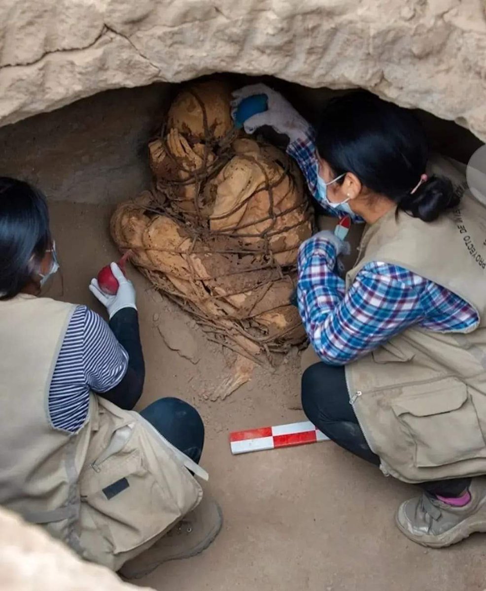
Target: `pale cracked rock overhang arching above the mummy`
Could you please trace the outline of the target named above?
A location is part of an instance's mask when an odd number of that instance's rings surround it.
[[[4,0],[0,124],[212,72],[364,87],[486,139],[482,0]]]

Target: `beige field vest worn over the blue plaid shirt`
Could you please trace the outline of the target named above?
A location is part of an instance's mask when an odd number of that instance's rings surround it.
[[[405,330],[346,366],[351,403],[384,473],[423,482],[486,473],[486,209],[453,161],[458,209],[425,223],[391,212],[368,226],[346,285],[370,261],[396,264],[457,294],[480,322],[469,331]]]

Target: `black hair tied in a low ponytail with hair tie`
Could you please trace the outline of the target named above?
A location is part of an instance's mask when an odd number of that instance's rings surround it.
[[[424,222],[459,204],[446,177],[432,175],[411,193],[425,173],[425,131],[411,111],[371,93],[358,90],[330,100],[317,128],[316,147],[335,176],[354,173],[365,187]],[[342,184],[344,178],[336,182]]]

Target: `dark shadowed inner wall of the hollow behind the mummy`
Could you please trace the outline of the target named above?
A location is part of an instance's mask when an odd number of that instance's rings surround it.
[[[232,85],[250,80],[228,76]],[[260,80],[260,77],[257,78]],[[311,89],[265,77],[311,123],[339,90]],[[23,178],[50,200],[119,203],[148,189],[147,144],[177,85],[154,83],[99,92],[50,113],[0,127],[0,174]],[[1,100],[1,98],[0,98]],[[467,162],[481,141],[452,121],[417,111],[433,148]]]

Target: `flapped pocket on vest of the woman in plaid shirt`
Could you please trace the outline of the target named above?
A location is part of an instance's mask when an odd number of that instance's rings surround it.
[[[413,440],[417,467],[486,456],[476,409],[466,385],[458,379],[404,388],[391,407]]]

